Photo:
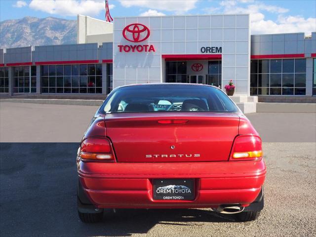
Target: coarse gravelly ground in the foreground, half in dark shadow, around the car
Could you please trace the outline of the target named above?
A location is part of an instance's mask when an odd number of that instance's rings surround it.
[[[77,143],[0,144],[0,236],[316,236],[316,143],[264,143],[268,175],[258,220],[208,209],[118,210],[83,224],[76,210]]]

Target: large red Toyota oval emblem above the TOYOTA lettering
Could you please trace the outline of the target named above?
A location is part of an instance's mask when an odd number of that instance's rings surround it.
[[[131,42],[141,42],[147,40],[149,36],[148,27],[140,23],[130,24],[123,29],[123,37]]]

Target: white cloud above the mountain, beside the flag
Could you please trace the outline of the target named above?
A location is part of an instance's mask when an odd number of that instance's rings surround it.
[[[32,0],[32,9],[61,16],[89,15],[96,16],[105,10],[104,0]],[[109,8],[115,5],[109,4]]]

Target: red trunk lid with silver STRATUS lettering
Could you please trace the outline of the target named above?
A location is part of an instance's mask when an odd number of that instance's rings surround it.
[[[105,116],[118,162],[228,160],[235,113],[115,113]]]

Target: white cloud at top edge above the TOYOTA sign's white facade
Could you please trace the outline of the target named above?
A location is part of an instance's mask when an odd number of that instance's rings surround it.
[[[139,6],[150,9],[174,11],[182,14],[196,7],[198,0],[119,0],[123,7]]]

